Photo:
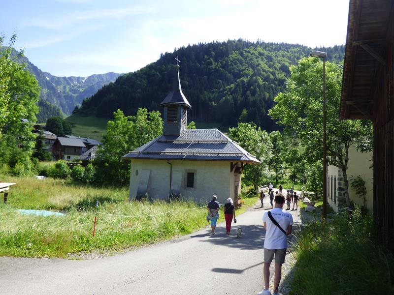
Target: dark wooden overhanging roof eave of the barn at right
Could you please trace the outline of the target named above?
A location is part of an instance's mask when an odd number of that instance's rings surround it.
[[[374,85],[388,61],[387,35],[393,1],[350,0],[340,117],[372,119]]]

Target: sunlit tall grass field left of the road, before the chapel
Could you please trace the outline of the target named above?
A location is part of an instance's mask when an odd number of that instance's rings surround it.
[[[10,188],[8,203],[0,204],[0,256],[66,258],[69,253],[114,253],[190,234],[207,225],[206,208],[198,208],[194,202],[129,202],[127,187],[92,187],[62,179],[6,175],[0,179],[17,183]],[[257,200],[252,194],[245,204]],[[46,209],[66,215],[22,215],[15,209]],[[241,207],[236,214],[245,210]],[[224,221],[223,215],[219,222]],[[93,237],[95,216],[98,221]]]

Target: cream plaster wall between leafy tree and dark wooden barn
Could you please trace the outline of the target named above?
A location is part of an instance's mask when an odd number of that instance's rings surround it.
[[[373,210],[373,169],[369,169],[372,165],[372,152],[361,153],[357,151],[355,146],[349,148],[348,162],[348,180],[349,180],[349,198],[356,204],[363,206],[362,198],[356,194],[356,191],[350,185],[350,177],[360,175],[365,180],[367,208]]]

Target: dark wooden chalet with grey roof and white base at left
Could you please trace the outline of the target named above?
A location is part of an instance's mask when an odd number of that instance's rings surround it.
[[[82,155],[85,144],[79,138],[58,137],[53,144],[52,154],[56,160],[71,161]]]

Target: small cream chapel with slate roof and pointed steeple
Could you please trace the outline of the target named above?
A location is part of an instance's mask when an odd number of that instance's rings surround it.
[[[129,152],[130,198],[150,199],[182,196],[206,202],[212,195],[220,203],[241,189],[241,174],[247,164],[260,161],[218,129],[187,129],[192,108],[182,93],[179,80],[164,98],[164,134]]]

